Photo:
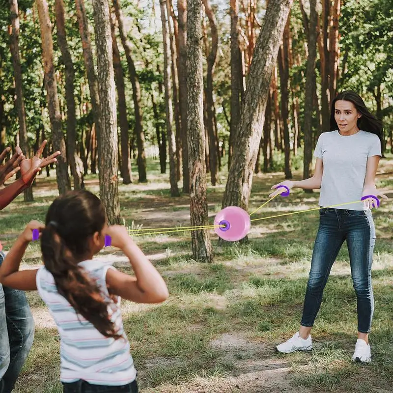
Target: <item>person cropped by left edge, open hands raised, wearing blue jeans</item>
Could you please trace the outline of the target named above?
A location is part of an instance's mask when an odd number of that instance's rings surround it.
[[[0,210],[11,203],[20,193],[31,186],[41,168],[56,162],[59,151],[47,158],[40,158],[46,140],[34,157],[27,159],[19,146],[16,153],[5,164],[0,165],[0,186],[18,170],[21,178],[0,189]],[[7,147],[0,154],[0,164],[5,158]],[[0,265],[4,253],[0,246]],[[0,393],[10,393],[25,363],[34,337],[34,320],[25,292],[0,284]]]

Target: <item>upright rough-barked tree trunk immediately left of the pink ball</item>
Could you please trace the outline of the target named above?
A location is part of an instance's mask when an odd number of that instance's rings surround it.
[[[188,91],[188,153],[191,178],[191,225],[208,224],[205,131],[203,127],[203,75],[201,3],[188,0],[187,15],[187,91]],[[195,260],[213,261],[213,249],[208,229],[191,232]]]

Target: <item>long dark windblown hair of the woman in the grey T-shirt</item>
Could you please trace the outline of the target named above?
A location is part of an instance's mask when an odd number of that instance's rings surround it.
[[[358,119],[358,127],[360,130],[367,131],[371,134],[375,134],[382,145],[382,129],[383,124],[381,120],[378,120],[365,106],[365,102],[362,97],[353,90],[342,91],[332,102],[332,110],[330,112],[330,131],[338,130],[338,125],[335,119],[335,105],[336,101],[350,101],[355,106],[357,111],[362,114]]]

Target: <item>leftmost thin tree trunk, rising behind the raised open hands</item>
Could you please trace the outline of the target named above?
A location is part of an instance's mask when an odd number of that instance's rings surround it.
[[[26,128],[26,111],[25,111],[25,100],[23,97],[23,81],[22,81],[22,69],[21,59],[19,55],[19,9],[18,0],[9,0],[10,4],[10,16],[11,16],[11,39],[10,39],[10,50],[12,56],[12,65],[14,68],[14,79],[15,79],[15,93],[16,93],[16,107],[18,111],[18,123],[19,123],[19,140],[22,151],[29,158],[29,146],[28,146],[28,133]],[[0,150],[1,152],[2,150]],[[33,187],[32,185],[24,191],[25,202],[31,202],[33,198]]]

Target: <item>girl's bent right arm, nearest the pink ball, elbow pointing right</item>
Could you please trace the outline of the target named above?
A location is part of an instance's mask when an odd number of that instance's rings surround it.
[[[108,228],[112,245],[119,247],[129,258],[135,277],[108,269],[106,282],[112,294],[136,303],[161,303],[169,294],[160,273],[128,235],[126,228],[113,225]],[[120,239],[122,238],[122,239]],[[119,241],[120,240],[120,241]]]

